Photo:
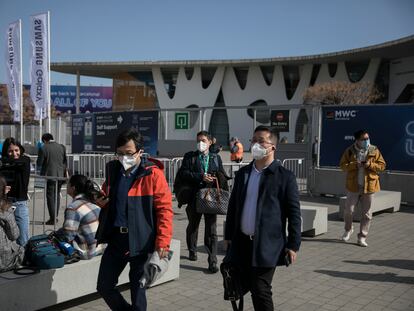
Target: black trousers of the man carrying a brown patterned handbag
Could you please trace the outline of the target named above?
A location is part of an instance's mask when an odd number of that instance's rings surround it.
[[[197,213],[195,203],[185,209],[188,218],[186,230],[187,247],[190,252],[197,252],[198,227],[204,215],[204,246],[208,253],[208,263],[217,263],[217,215]]]

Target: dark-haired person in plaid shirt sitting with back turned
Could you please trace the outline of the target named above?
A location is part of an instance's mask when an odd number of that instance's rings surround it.
[[[94,202],[101,195],[99,190],[88,177],[72,175],[67,184],[67,193],[73,201],[65,210],[63,226],[58,232],[73,244],[82,259],[102,254],[102,244],[96,245],[95,239],[101,209]]]

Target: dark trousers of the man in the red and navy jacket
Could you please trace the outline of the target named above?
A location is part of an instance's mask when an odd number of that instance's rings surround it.
[[[147,310],[145,288],[140,288],[138,282],[144,272],[144,264],[148,257],[147,254],[129,257],[128,249],[128,234],[114,233],[113,239],[108,243],[102,255],[97,290],[111,310],[145,311]],[[132,305],[115,287],[118,284],[119,275],[128,262]]]

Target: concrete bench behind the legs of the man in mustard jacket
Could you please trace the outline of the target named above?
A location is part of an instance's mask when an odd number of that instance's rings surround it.
[[[346,196],[339,199],[339,218],[344,219]],[[401,192],[381,190],[374,194],[372,198],[371,211],[372,213],[380,211],[397,212],[400,210]],[[359,204],[355,206],[354,221],[361,220],[361,209]]]

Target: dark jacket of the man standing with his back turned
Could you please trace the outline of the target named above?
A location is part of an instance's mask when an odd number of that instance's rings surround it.
[[[67,164],[65,146],[51,141],[39,149],[37,167],[40,175],[65,177]]]

